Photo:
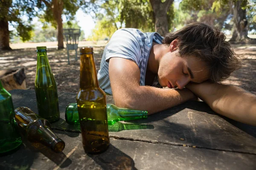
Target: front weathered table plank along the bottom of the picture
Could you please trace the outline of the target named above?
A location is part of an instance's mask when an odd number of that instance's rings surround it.
[[[1,170],[255,170],[256,155],[111,138],[109,149],[99,155],[84,153],[81,134],[54,130],[64,140],[63,153],[23,145],[0,157]]]

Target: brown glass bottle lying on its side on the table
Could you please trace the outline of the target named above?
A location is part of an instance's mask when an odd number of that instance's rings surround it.
[[[41,118],[31,109],[26,107],[15,109],[15,120],[20,133],[26,136],[29,142],[40,142],[55,152],[64,149],[65,143],[52,132],[49,121]]]

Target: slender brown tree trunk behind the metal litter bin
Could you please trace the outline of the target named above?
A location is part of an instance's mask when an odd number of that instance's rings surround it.
[[[62,26],[62,18],[61,14],[63,11],[63,1],[62,0],[53,0],[53,15],[54,19],[57,22],[57,30],[58,30],[58,50],[64,48],[64,38],[63,38],[63,26]]]

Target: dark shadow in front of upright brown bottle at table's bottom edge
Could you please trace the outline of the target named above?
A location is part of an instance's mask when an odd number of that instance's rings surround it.
[[[137,170],[134,160],[121,150],[109,145],[108,150],[98,155],[87,154],[104,170]]]

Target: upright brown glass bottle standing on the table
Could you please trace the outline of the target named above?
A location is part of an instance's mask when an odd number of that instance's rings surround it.
[[[76,96],[83,147],[86,153],[108,149],[106,94],[99,88],[93,47],[80,48],[80,89]]]

